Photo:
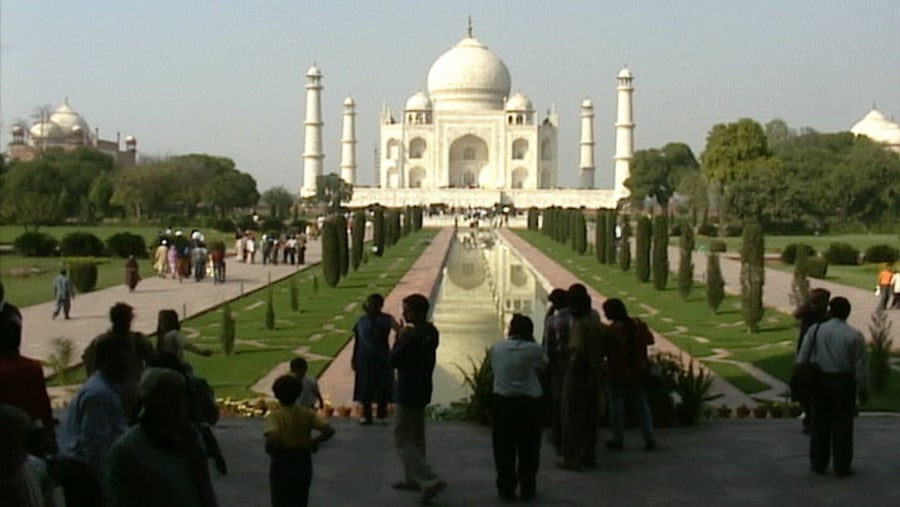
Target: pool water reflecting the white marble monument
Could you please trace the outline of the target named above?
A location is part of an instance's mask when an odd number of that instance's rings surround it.
[[[460,229],[450,246],[432,319],[441,333],[432,403],[466,396],[462,374],[503,339],[514,313],[531,317],[535,339],[543,334],[546,291],[522,259],[492,233]]]

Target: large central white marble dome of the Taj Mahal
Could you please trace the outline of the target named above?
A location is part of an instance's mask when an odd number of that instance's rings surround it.
[[[474,37],[464,37],[428,71],[428,95],[436,110],[503,109],[509,69]]]

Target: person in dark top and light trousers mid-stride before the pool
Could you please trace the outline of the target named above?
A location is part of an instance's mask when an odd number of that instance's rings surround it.
[[[406,327],[397,333],[391,365],[397,370],[394,401],[394,448],[403,463],[403,481],[396,489],[422,491],[422,503],[447,487],[425,459],[425,407],[431,403],[432,379],[439,333],[428,322],[428,298],[412,294],[403,299]]]

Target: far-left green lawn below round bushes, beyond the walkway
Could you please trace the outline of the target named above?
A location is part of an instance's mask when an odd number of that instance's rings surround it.
[[[125,284],[125,259],[101,257],[97,259],[97,290]],[[53,278],[65,262],[60,257],[24,257],[0,253],[0,281],[6,299],[19,307],[53,300]],[[154,276],[151,261],[138,261],[141,277]]]

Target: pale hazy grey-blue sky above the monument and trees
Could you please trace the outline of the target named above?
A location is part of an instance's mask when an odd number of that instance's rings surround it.
[[[324,72],[326,172],[339,172],[341,102],[357,103],[358,179],[374,181],[378,114],[425,90],[465,35],[506,62],[512,92],[560,112],[560,181],[575,186],[579,105],[611,183],[615,76],[635,74],[637,149],[715,123],[849,130],[872,103],[900,116],[897,0],[339,1],[2,0],[0,142],[36,107],[69,104],[143,154],[233,158],[260,191],[301,184],[304,74]]]

